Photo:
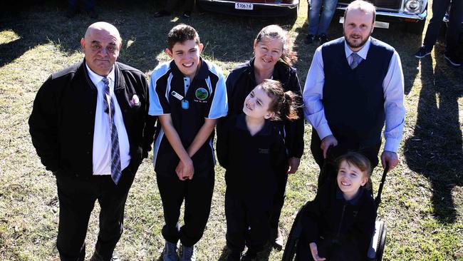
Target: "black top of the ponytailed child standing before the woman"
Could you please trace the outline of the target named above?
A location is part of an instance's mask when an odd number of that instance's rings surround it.
[[[227,170],[227,191],[269,200],[276,190],[276,173],[281,173],[276,168],[287,161],[281,137],[269,121],[251,136],[243,113],[230,116],[217,137],[217,158]]]

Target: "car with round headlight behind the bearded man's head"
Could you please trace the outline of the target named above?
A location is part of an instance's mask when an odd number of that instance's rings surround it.
[[[353,0],[338,0],[337,14],[343,16],[345,8],[351,1]],[[371,0],[370,2],[376,6],[376,27],[388,29],[391,22],[406,23],[407,31],[422,34],[427,16],[427,0]]]

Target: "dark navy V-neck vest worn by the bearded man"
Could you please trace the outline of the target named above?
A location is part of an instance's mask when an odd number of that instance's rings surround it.
[[[351,69],[344,37],[321,49],[325,84],[323,107],[335,138],[347,148],[380,143],[385,122],[383,80],[394,49],[372,38],[367,58]]]

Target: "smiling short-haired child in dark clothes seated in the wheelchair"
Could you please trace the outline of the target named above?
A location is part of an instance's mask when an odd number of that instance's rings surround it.
[[[336,162],[336,181],[323,185],[306,205],[296,260],[367,257],[376,219],[375,201],[365,188],[371,175],[370,161],[349,152]]]

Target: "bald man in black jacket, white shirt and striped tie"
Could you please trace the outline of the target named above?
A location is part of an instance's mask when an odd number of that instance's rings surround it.
[[[147,116],[143,73],[116,61],[118,29],[92,24],[80,44],[83,61],[53,73],[38,90],[29,131],[41,162],[56,177],[61,260],[84,260],[96,200],[100,232],[90,260],[118,260],[113,251],[123,232],[125,200],[150,150],[155,118]]]

